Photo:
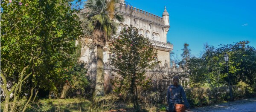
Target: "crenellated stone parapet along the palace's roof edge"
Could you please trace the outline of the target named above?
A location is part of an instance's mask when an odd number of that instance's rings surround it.
[[[125,3],[119,4],[119,13],[133,17],[134,19],[141,19],[148,23],[153,23],[158,26],[166,27],[163,17],[151,14],[150,12],[138,9]]]

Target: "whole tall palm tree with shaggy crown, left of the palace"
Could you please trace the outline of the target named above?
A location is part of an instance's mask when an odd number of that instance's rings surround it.
[[[97,73],[96,87],[94,95],[104,95],[104,66],[103,66],[103,47],[111,36],[116,33],[118,23],[124,19],[117,14],[116,4],[119,0],[87,0],[84,8],[89,22],[88,28],[92,31],[91,39],[97,46]]]

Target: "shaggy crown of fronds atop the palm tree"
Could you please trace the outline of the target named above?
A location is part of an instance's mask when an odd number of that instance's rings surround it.
[[[123,17],[117,13],[116,3],[119,0],[87,0],[84,10],[80,13],[82,26],[91,32],[91,39],[96,46],[106,45],[112,34],[116,33],[117,25],[114,20],[122,22]]]

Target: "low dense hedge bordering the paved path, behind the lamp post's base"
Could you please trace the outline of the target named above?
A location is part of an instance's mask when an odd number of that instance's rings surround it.
[[[233,98],[250,98],[255,96],[252,87],[238,85],[232,86]],[[230,92],[228,86],[221,86],[215,88],[192,88],[185,90],[189,104],[192,107],[205,106],[211,103],[220,103],[230,99]]]

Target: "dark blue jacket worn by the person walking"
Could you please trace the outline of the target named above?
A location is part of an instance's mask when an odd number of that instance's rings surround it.
[[[183,101],[182,101],[183,100]],[[168,88],[167,91],[167,103],[179,103],[179,104],[184,104],[187,109],[189,109],[189,103],[186,99],[186,94],[184,92],[184,89],[182,86],[174,86],[171,85]]]

